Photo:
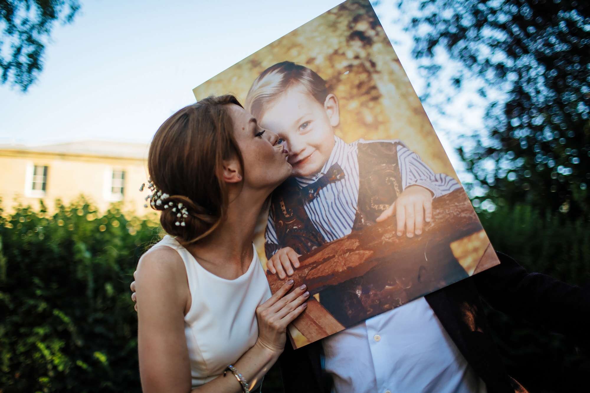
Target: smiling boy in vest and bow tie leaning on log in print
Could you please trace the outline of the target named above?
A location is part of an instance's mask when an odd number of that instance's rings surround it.
[[[278,134],[293,166],[291,178],[273,192],[265,234],[267,268],[281,279],[299,267],[300,256],[392,215],[396,236],[420,236],[432,219],[432,199],[461,189],[401,140],[346,143],[337,137],[339,100],[308,67],[290,61],[268,67],[252,84],[245,107]],[[438,280],[468,276],[454,258],[431,263]],[[400,294],[404,279],[375,268],[322,290],[320,303],[343,326],[352,326],[432,290],[425,280]],[[418,304],[428,307],[421,299]]]

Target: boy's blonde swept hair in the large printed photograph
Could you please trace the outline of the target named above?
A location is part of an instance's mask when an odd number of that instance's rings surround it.
[[[310,96],[324,104],[328,95],[326,81],[305,66],[282,61],[268,67],[254,80],[246,96],[245,109],[254,117],[260,117],[270,101],[296,83],[303,85]]]

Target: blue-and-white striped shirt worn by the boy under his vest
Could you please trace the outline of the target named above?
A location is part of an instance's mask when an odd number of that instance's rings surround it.
[[[338,163],[345,173],[342,180],[330,183],[320,189],[318,196],[311,202],[303,202],[305,211],[314,227],[326,241],[337,240],[352,231],[359,196],[359,143],[398,143],[398,163],[403,189],[411,185],[420,185],[429,189],[434,198],[437,198],[437,196],[448,194],[461,187],[451,176],[444,173],[434,173],[416,153],[406,148],[399,140],[359,139],[352,143],[346,143],[336,136],[335,140],[332,153],[319,173],[310,177],[296,178],[299,187],[303,188],[317,181],[335,163]],[[278,244],[272,212],[268,216],[265,237],[267,243]],[[280,244],[278,248],[281,248]]]

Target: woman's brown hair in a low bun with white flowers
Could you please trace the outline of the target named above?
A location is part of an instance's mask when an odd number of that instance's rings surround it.
[[[149,148],[152,182],[170,195],[153,208],[161,211],[162,228],[183,244],[201,240],[225,220],[228,190],[221,179],[222,160],[235,156],[244,168],[227,104],[241,107],[234,96],[225,95],[182,108],[159,127]],[[186,207],[185,226],[175,224],[178,212],[164,208],[168,202]]]

